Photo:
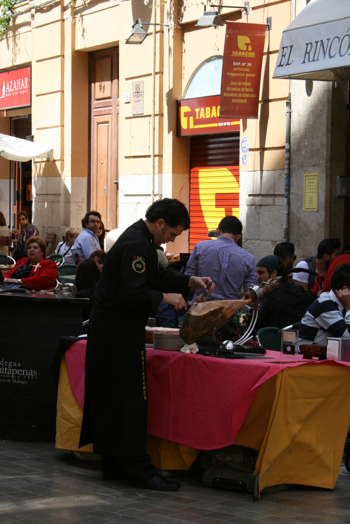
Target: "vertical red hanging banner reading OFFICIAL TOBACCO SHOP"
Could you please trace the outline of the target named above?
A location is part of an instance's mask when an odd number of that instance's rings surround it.
[[[220,106],[223,118],[258,118],[265,24],[226,22]]]

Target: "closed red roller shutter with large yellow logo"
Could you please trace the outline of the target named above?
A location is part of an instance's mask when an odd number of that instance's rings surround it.
[[[226,215],[239,215],[239,134],[191,138],[190,252]]]

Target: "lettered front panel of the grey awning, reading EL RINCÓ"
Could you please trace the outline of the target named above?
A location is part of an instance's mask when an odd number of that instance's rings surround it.
[[[350,18],[345,18],[283,32],[273,78],[302,77],[349,65]]]

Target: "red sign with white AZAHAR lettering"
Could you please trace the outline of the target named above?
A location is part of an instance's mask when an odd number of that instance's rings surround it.
[[[0,110],[30,105],[31,66],[0,71]]]

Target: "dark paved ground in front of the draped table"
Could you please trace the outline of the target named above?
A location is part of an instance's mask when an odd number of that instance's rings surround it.
[[[0,442],[0,523],[17,524],[350,524],[350,474],[333,492],[294,487],[261,495],[204,487],[200,475],[173,477],[179,492],[103,481],[98,462],[54,443]]]

